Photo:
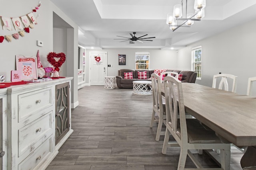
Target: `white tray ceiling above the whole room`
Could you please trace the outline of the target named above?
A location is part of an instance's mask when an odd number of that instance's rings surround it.
[[[157,48],[179,49],[200,39],[245,22],[256,20],[256,0],[206,0],[205,18],[191,27],[172,32],[166,14],[181,0],[52,0],[79,27],[79,44],[94,49]],[[183,0],[184,5],[186,0]],[[194,13],[194,0],[188,0],[188,13]],[[120,37],[156,37],[153,41],[114,40]]]

